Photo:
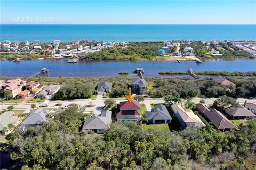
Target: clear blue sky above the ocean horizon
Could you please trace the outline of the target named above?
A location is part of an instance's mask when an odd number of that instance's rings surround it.
[[[256,24],[256,1],[1,0],[1,23]]]

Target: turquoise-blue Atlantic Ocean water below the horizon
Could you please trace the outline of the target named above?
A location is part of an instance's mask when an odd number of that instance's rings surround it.
[[[256,24],[1,24],[0,40],[256,40]]]

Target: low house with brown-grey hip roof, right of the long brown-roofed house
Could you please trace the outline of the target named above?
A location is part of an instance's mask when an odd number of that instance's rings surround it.
[[[256,117],[252,112],[248,111],[244,106],[230,107],[225,112],[233,119],[250,119]]]

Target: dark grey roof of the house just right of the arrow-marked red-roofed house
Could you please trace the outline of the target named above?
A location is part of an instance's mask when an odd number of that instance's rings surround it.
[[[156,105],[152,112],[145,112],[147,120],[172,120],[170,113],[164,105]]]

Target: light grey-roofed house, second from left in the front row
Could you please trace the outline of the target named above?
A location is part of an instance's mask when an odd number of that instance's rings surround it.
[[[28,115],[23,122],[21,122],[20,130],[25,131],[28,127],[42,125],[43,122],[47,121],[47,114],[49,113],[46,109],[38,108],[36,111]]]

